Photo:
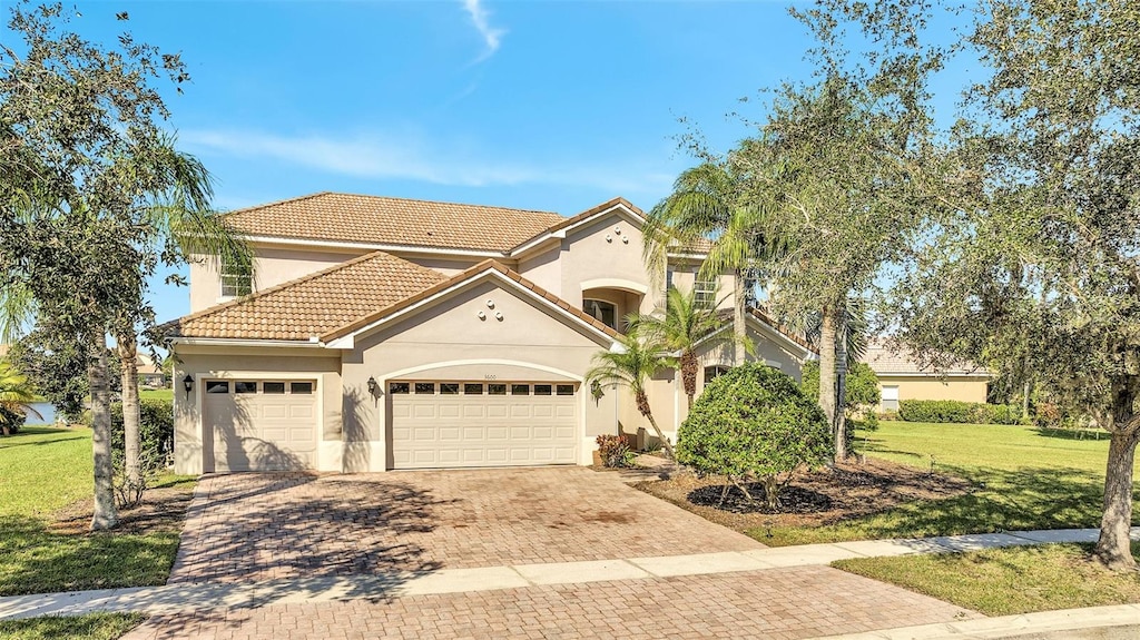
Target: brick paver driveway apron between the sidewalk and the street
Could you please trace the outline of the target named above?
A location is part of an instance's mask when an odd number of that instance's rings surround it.
[[[758,638],[977,614],[829,567],[157,615],[123,640]]]

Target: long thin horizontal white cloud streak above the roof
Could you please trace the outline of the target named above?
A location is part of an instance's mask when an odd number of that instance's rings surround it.
[[[179,141],[199,155],[266,158],[326,173],[370,179],[414,180],[458,187],[556,184],[593,187],[618,194],[663,192],[673,177],[657,163],[630,158],[612,163],[542,163],[504,161],[433,148],[394,136],[331,138],[319,134],[277,136],[249,131],[182,130]]]

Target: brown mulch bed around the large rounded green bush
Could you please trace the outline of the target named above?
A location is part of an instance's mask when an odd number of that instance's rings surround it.
[[[886,460],[848,461],[831,468],[798,474],[780,495],[780,506],[769,511],[764,490],[749,484],[755,500],[748,500],[722,477],[700,478],[678,471],[667,479],[633,486],[736,531],[769,527],[819,526],[866,516],[915,500],[943,500],[968,493],[969,482],[944,474],[895,465]]]

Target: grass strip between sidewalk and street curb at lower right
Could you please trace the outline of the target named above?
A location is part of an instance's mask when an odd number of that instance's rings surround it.
[[[1140,602],[1140,574],[1088,561],[1091,544],[839,560],[832,566],[991,616]],[[1132,553],[1140,556],[1140,544]]]

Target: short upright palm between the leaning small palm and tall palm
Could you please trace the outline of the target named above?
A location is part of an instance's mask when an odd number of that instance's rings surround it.
[[[694,290],[683,292],[675,287],[667,292],[662,311],[652,315],[635,315],[630,322],[630,330],[654,336],[668,348],[681,353],[681,381],[690,409],[693,408],[697,375],[700,372],[697,344],[724,323],[708,300],[699,301]]]

